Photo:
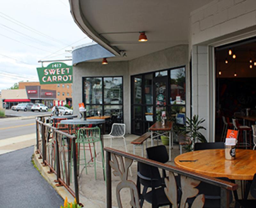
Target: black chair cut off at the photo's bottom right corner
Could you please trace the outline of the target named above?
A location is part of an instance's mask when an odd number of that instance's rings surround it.
[[[254,199],[237,199],[235,208],[243,207],[243,208],[255,208],[256,207],[256,173],[254,174],[251,188],[251,195]]]

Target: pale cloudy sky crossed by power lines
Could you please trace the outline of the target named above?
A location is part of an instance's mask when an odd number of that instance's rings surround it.
[[[38,60],[71,59],[66,50],[92,42],[74,22],[68,0],[1,1],[0,91],[38,81]]]

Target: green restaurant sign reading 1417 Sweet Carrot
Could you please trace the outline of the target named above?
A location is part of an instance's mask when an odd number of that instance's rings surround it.
[[[36,68],[40,84],[60,84],[73,82],[73,68],[62,62],[54,62],[47,67]]]

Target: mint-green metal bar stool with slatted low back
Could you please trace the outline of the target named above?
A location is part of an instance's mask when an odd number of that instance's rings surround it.
[[[93,145],[93,164],[94,164],[94,174],[95,180],[97,178],[96,174],[96,149],[95,143],[100,142],[100,149],[101,149],[101,156],[102,156],[102,169],[104,173],[104,178],[106,177],[105,167],[104,167],[104,154],[103,154],[103,147],[102,142],[100,139],[100,128],[99,127],[92,127],[92,128],[80,128],[77,133],[76,143],[78,144],[77,148],[77,166],[84,165],[85,172],[87,174],[87,165],[90,163],[86,162],[86,154],[85,154],[85,144],[92,144]],[[80,159],[80,145],[83,145],[84,148],[84,158]],[[84,161],[84,164],[80,164],[80,160]]]

